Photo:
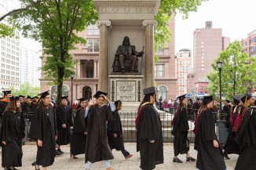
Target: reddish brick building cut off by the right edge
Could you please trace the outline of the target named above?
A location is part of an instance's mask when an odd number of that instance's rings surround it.
[[[247,38],[242,39],[243,52],[247,52],[248,56],[256,57],[256,30],[247,34]]]

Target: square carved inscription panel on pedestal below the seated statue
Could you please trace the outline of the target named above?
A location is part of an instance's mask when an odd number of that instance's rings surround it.
[[[136,102],[136,81],[116,81],[116,99]]]

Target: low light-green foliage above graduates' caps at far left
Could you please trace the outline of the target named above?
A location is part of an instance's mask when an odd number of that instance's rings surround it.
[[[32,87],[29,82],[25,82],[24,84],[20,85],[20,89],[10,87],[8,90],[12,91],[13,96],[37,96],[40,91],[40,87]]]

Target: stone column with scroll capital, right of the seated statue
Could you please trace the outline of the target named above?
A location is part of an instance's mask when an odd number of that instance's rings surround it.
[[[154,66],[155,66],[155,52],[154,52],[154,26],[156,20],[143,20],[145,27],[145,70],[144,70],[144,88],[155,85]]]

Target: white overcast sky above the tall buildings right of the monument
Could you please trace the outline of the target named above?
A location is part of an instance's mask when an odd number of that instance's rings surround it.
[[[193,31],[213,21],[214,28],[222,28],[222,36],[234,40],[247,38],[256,29],[256,0],[209,0],[203,2],[196,13],[189,13],[187,20],[177,14],[175,25],[175,51],[192,49]]]

